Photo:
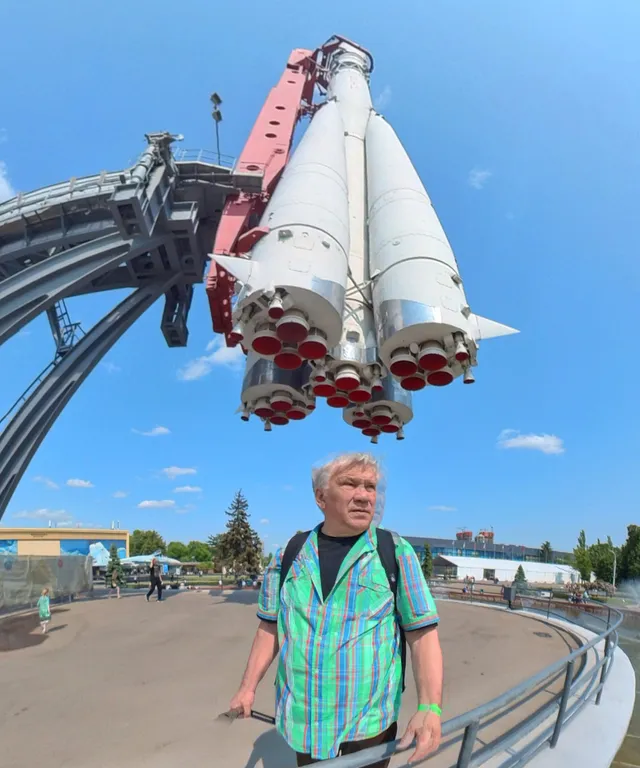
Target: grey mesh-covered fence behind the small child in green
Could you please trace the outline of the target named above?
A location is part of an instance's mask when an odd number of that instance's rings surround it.
[[[52,602],[90,592],[92,559],[78,555],[0,555],[0,614],[33,608],[48,587]]]

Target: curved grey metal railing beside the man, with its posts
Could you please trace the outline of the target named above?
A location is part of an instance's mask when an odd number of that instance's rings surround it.
[[[526,607],[527,602],[534,603],[533,600],[527,600],[526,596],[518,596],[521,600],[521,605]],[[478,600],[477,597],[474,600],[475,604],[487,603],[482,599]],[[542,603],[542,601],[540,601]],[[605,614],[603,616],[595,616],[593,618],[598,619],[604,623],[604,628],[596,633],[588,642],[581,645],[575,651],[565,656],[562,659],[550,664],[545,669],[541,670],[537,674],[528,678],[524,682],[516,685],[514,688],[506,691],[505,693],[497,696],[495,699],[481,704],[474,709],[465,712],[457,717],[452,717],[450,720],[445,721],[442,724],[442,744],[438,752],[430,755],[433,757],[435,754],[439,754],[445,749],[451,747],[456,741],[460,741],[460,747],[458,751],[458,757],[456,766],[457,768],[477,768],[486,763],[490,758],[494,757],[500,752],[509,750],[508,758],[501,763],[501,768],[509,768],[509,766],[524,765],[531,760],[538,752],[547,744],[553,748],[558,742],[560,733],[563,726],[569,722],[577,713],[595,697],[596,705],[600,704],[602,697],[602,690],[606,682],[609,670],[611,669],[611,663],[613,661],[613,654],[618,645],[618,628],[622,624],[624,618],[621,611],[616,608],[601,605],[594,601],[587,603],[586,608],[594,609],[598,607]],[[551,610],[551,601],[548,602],[546,607],[542,603],[541,608],[527,607],[527,610],[533,610],[535,613],[551,618],[552,616],[562,618],[565,621],[588,629],[584,624],[579,621],[573,621],[569,616],[570,613],[578,612],[579,614],[585,614],[587,611],[581,611],[577,606],[567,605],[567,609],[563,609],[562,613]],[[593,629],[590,629],[593,631]],[[601,658],[597,658],[596,646],[604,641],[604,653]],[[596,653],[596,663],[589,667],[583,674],[576,672],[577,665],[580,663],[585,664],[587,654],[594,649]],[[508,714],[511,710],[503,711],[511,704],[517,703],[519,700],[526,696],[530,696],[537,690],[541,690],[549,683],[557,680],[564,674],[564,683],[562,690],[552,696],[550,701],[540,707],[533,715],[525,717],[522,722],[517,726],[510,728],[506,733],[496,737],[492,741],[485,743],[479,750],[474,753],[474,747],[478,732],[484,725],[488,723],[496,722],[504,715]],[[584,690],[583,690],[584,689]],[[576,697],[573,702],[570,703],[572,697]],[[517,743],[528,734],[531,734],[533,729],[541,726],[546,720],[553,715],[557,710],[557,715],[553,722],[548,724],[539,734],[529,740],[524,746],[516,747]],[[494,716],[493,719],[492,716]],[[456,738],[457,734],[461,734]],[[344,757],[337,757],[333,760],[327,760],[324,765],[326,768],[364,768],[364,766],[376,763],[379,760],[390,757],[401,750],[398,749],[399,740],[384,744],[378,747],[371,747],[370,749],[362,750],[351,755],[345,755]]]

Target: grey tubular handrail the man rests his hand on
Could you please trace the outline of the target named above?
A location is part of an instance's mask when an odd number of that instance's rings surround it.
[[[478,602],[482,601],[477,600],[476,604]],[[564,658],[549,664],[540,672],[537,672],[510,690],[505,691],[505,693],[500,694],[500,696],[496,696],[486,704],[481,704],[477,707],[474,707],[474,709],[471,709],[462,715],[452,717],[450,720],[447,720],[442,724],[443,740],[447,736],[451,736],[452,734],[464,729],[460,744],[460,751],[458,753],[458,760],[456,763],[457,768],[477,768],[477,766],[482,765],[484,761],[488,760],[498,752],[509,747],[513,747],[513,745],[516,744],[523,736],[531,733],[534,727],[541,725],[550,716],[553,710],[557,708],[558,716],[556,717],[555,723],[553,723],[549,728],[545,729],[542,734],[538,735],[533,739],[532,742],[526,744],[520,750],[515,752],[511,750],[509,762],[505,763],[505,766],[511,764],[515,765],[516,763],[518,765],[522,765],[523,763],[518,761],[522,761],[523,758],[530,760],[547,742],[549,743],[550,748],[553,749],[558,742],[563,725],[571,720],[582,709],[582,707],[587,704],[591,698],[593,698],[594,695],[596,697],[596,705],[600,704],[602,690],[609,674],[609,670],[611,669],[613,653],[618,644],[618,635],[616,630],[622,624],[624,614],[617,608],[605,606],[597,603],[596,601],[590,601],[588,604],[598,605],[603,610],[607,610],[608,613],[606,619],[606,629],[604,629],[599,634],[596,634],[595,637],[584,643],[584,645],[581,645],[575,651],[569,653]],[[579,606],[571,605],[569,607],[574,610],[579,610]],[[580,611],[580,613],[586,614],[587,612]],[[571,624],[581,626],[578,624],[578,622],[573,621],[571,618],[567,618],[566,616],[563,616],[562,618],[565,621],[569,621]],[[601,617],[597,618],[600,619]],[[604,619],[602,620],[604,621]],[[588,670],[587,674],[578,675],[575,677],[574,668],[576,661],[581,657],[586,656],[586,654],[592,648],[595,648],[595,646],[598,645],[598,643],[601,643],[603,640],[605,642],[605,648],[602,658],[598,659],[593,668]],[[499,711],[500,709],[508,706],[509,704],[512,704],[523,694],[530,692],[538,684],[547,681],[550,677],[560,672],[563,668],[565,669],[565,681],[560,693],[554,695],[551,701],[547,702],[532,716],[525,718],[523,722],[512,728],[508,733],[498,736],[496,739],[483,746],[481,750],[476,752],[476,754],[473,754],[473,748],[475,746],[476,737],[482,725],[482,720]],[[594,685],[598,673],[600,673],[600,680],[598,681],[597,685]],[[569,707],[568,704],[571,696],[585,684],[585,692],[578,696],[577,701],[575,701],[571,707]],[[388,744],[383,744],[378,747],[371,747],[351,755],[345,755],[343,757],[336,757],[332,760],[323,761],[323,765],[326,766],[326,768],[364,768],[367,765],[371,765],[372,763],[376,763],[380,760],[384,760],[387,757],[391,757],[396,753],[404,752],[405,750],[398,749],[399,743],[400,740],[397,739],[396,741],[389,742]],[[429,758],[433,757],[449,746],[451,746],[451,742],[446,744],[442,743],[438,752],[432,753],[429,755]],[[408,750],[410,748],[411,747],[407,747],[406,749]]]

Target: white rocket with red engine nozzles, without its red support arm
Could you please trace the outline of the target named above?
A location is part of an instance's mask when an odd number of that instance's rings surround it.
[[[471,312],[424,185],[373,107],[370,56],[341,39],[326,68],[253,248],[212,254],[240,286],[228,336],[247,352],[239,410],[270,430],[321,398],[374,442],[402,439],[412,393],[473,383],[480,340],[517,331]]]

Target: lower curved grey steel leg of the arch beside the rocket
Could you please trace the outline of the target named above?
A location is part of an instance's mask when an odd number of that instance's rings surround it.
[[[122,334],[179,275],[138,288],[45,376],[0,435],[0,518],[40,443],[82,382]]]

